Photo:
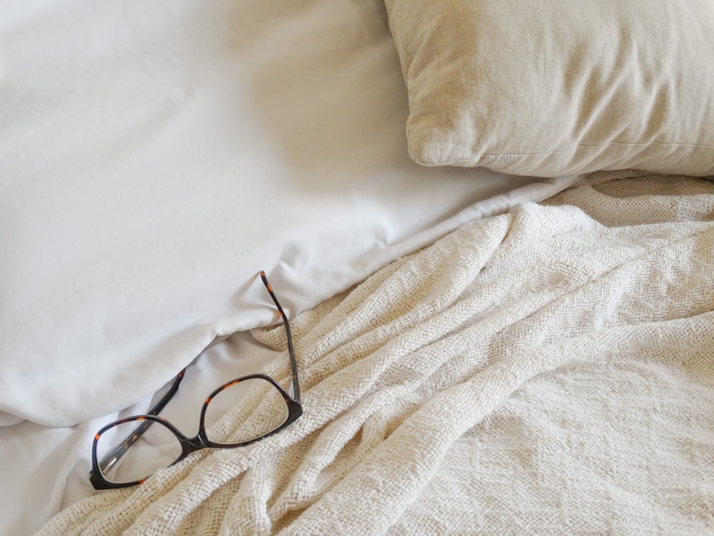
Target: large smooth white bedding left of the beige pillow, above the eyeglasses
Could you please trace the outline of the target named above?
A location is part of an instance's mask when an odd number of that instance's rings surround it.
[[[243,4],[1,4],[0,422],[119,410],[276,321],[260,269],[296,314],[566,184],[411,162],[383,5]]]

